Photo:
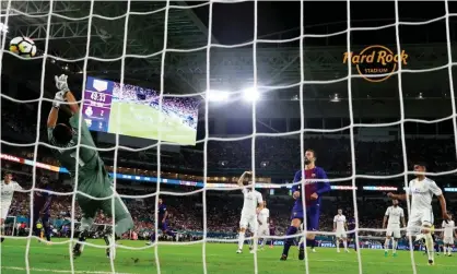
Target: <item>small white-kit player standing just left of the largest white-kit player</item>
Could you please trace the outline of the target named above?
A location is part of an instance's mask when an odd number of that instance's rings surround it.
[[[387,223],[387,219],[388,219],[388,223]],[[386,223],[387,223],[386,242],[384,243],[385,257],[389,254],[390,239],[392,241],[391,249],[392,249],[394,257],[397,257],[397,243],[398,243],[398,239],[401,238],[400,219],[401,219],[401,224],[403,225],[403,227],[406,227],[405,211],[403,209],[398,206],[398,200],[392,200],[392,205],[387,207],[386,214],[384,214],[384,219],[383,219],[383,229],[386,228]]]

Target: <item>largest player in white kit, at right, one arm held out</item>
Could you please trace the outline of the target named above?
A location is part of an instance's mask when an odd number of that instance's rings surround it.
[[[446,200],[443,191],[436,186],[436,182],[426,178],[424,172],[426,168],[423,164],[414,165],[415,179],[409,182],[407,193],[411,196],[411,214],[408,221],[408,235],[415,236],[415,240],[425,239],[425,246],[429,254],[429,264],[434,264],[434,243],[431,234],[433,226],[432,199],[436,195],[443,219],[448,219],[446,210]],[[387,194],[391,199],[406,200],[407,194]]]

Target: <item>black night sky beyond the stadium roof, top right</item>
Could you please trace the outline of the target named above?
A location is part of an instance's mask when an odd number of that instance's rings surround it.
[[[198,2],[188,2],[189,5]],[[259,1],[258,3],[258,36],[266,39],[279,39],[272,33],[286,32],[281,38],[300,36],[300,1]],[[239,44],[254,37],[253,1],[241,3],[214,3],[212,33],[225,45]],[[194,9],[196,14],[208,26],[209,7]],[[449,12],[457,12],[457,2],[449,2]],[[399,3],[400,21],[418,22],[445,15],[445,2],[412,2]],[[454,19],[453,19],[454,20]],[[457,20],[457,17],[456,17]],[[305,1],[304,25],[307,34],[326,34],[341,32],[347,28],[347,2],[338,1]],[[401,26],[401,43],[438,43],[445,41],[445,24],[441,22],[425,26]],[[351,2],[351,26],[380,26],[395,23],[394,1],[353,1]],[[317,25],[317,26],[316,26]],[[323,38],[321,38],[323,39]],[[345,35],[330,38],[327,44],[341,46],[345,44]],[[395,27],[384,31],[353,32],[353,44],[390,44],[395,43]],[[308,39],[305,45],[321,45],[321,41]]]

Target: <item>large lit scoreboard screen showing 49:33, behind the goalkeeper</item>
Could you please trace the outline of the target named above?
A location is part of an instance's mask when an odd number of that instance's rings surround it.
[[[87,78],[83,118],[92,131],[195,145],[199,99],[163,97],[136,85]]]

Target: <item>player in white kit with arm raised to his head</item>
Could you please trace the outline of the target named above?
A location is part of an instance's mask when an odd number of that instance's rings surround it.
[[[250,171],[245,171],[242,177],[238,179],[238,186],[244,187],[244,180],[246,175],[251,175]],[[249,183],[248,183],[249,184]],[[243,245],[245,241],[246,228],[249,227],[249,230],[254,234],[257,234],[257,206],[258,210],[263,210],[263,199],[257,190],[254,189],[254,186],[243,189],[244,202],[242,210],[242,218],[239,221],[239,234],[238,234],[238,250],[236,253],[243,253]],[[254,239],[256,240],[256,239]],[[254,245],[255,247],[257,245]],[[256,252],[255,249],[251,252]]]

